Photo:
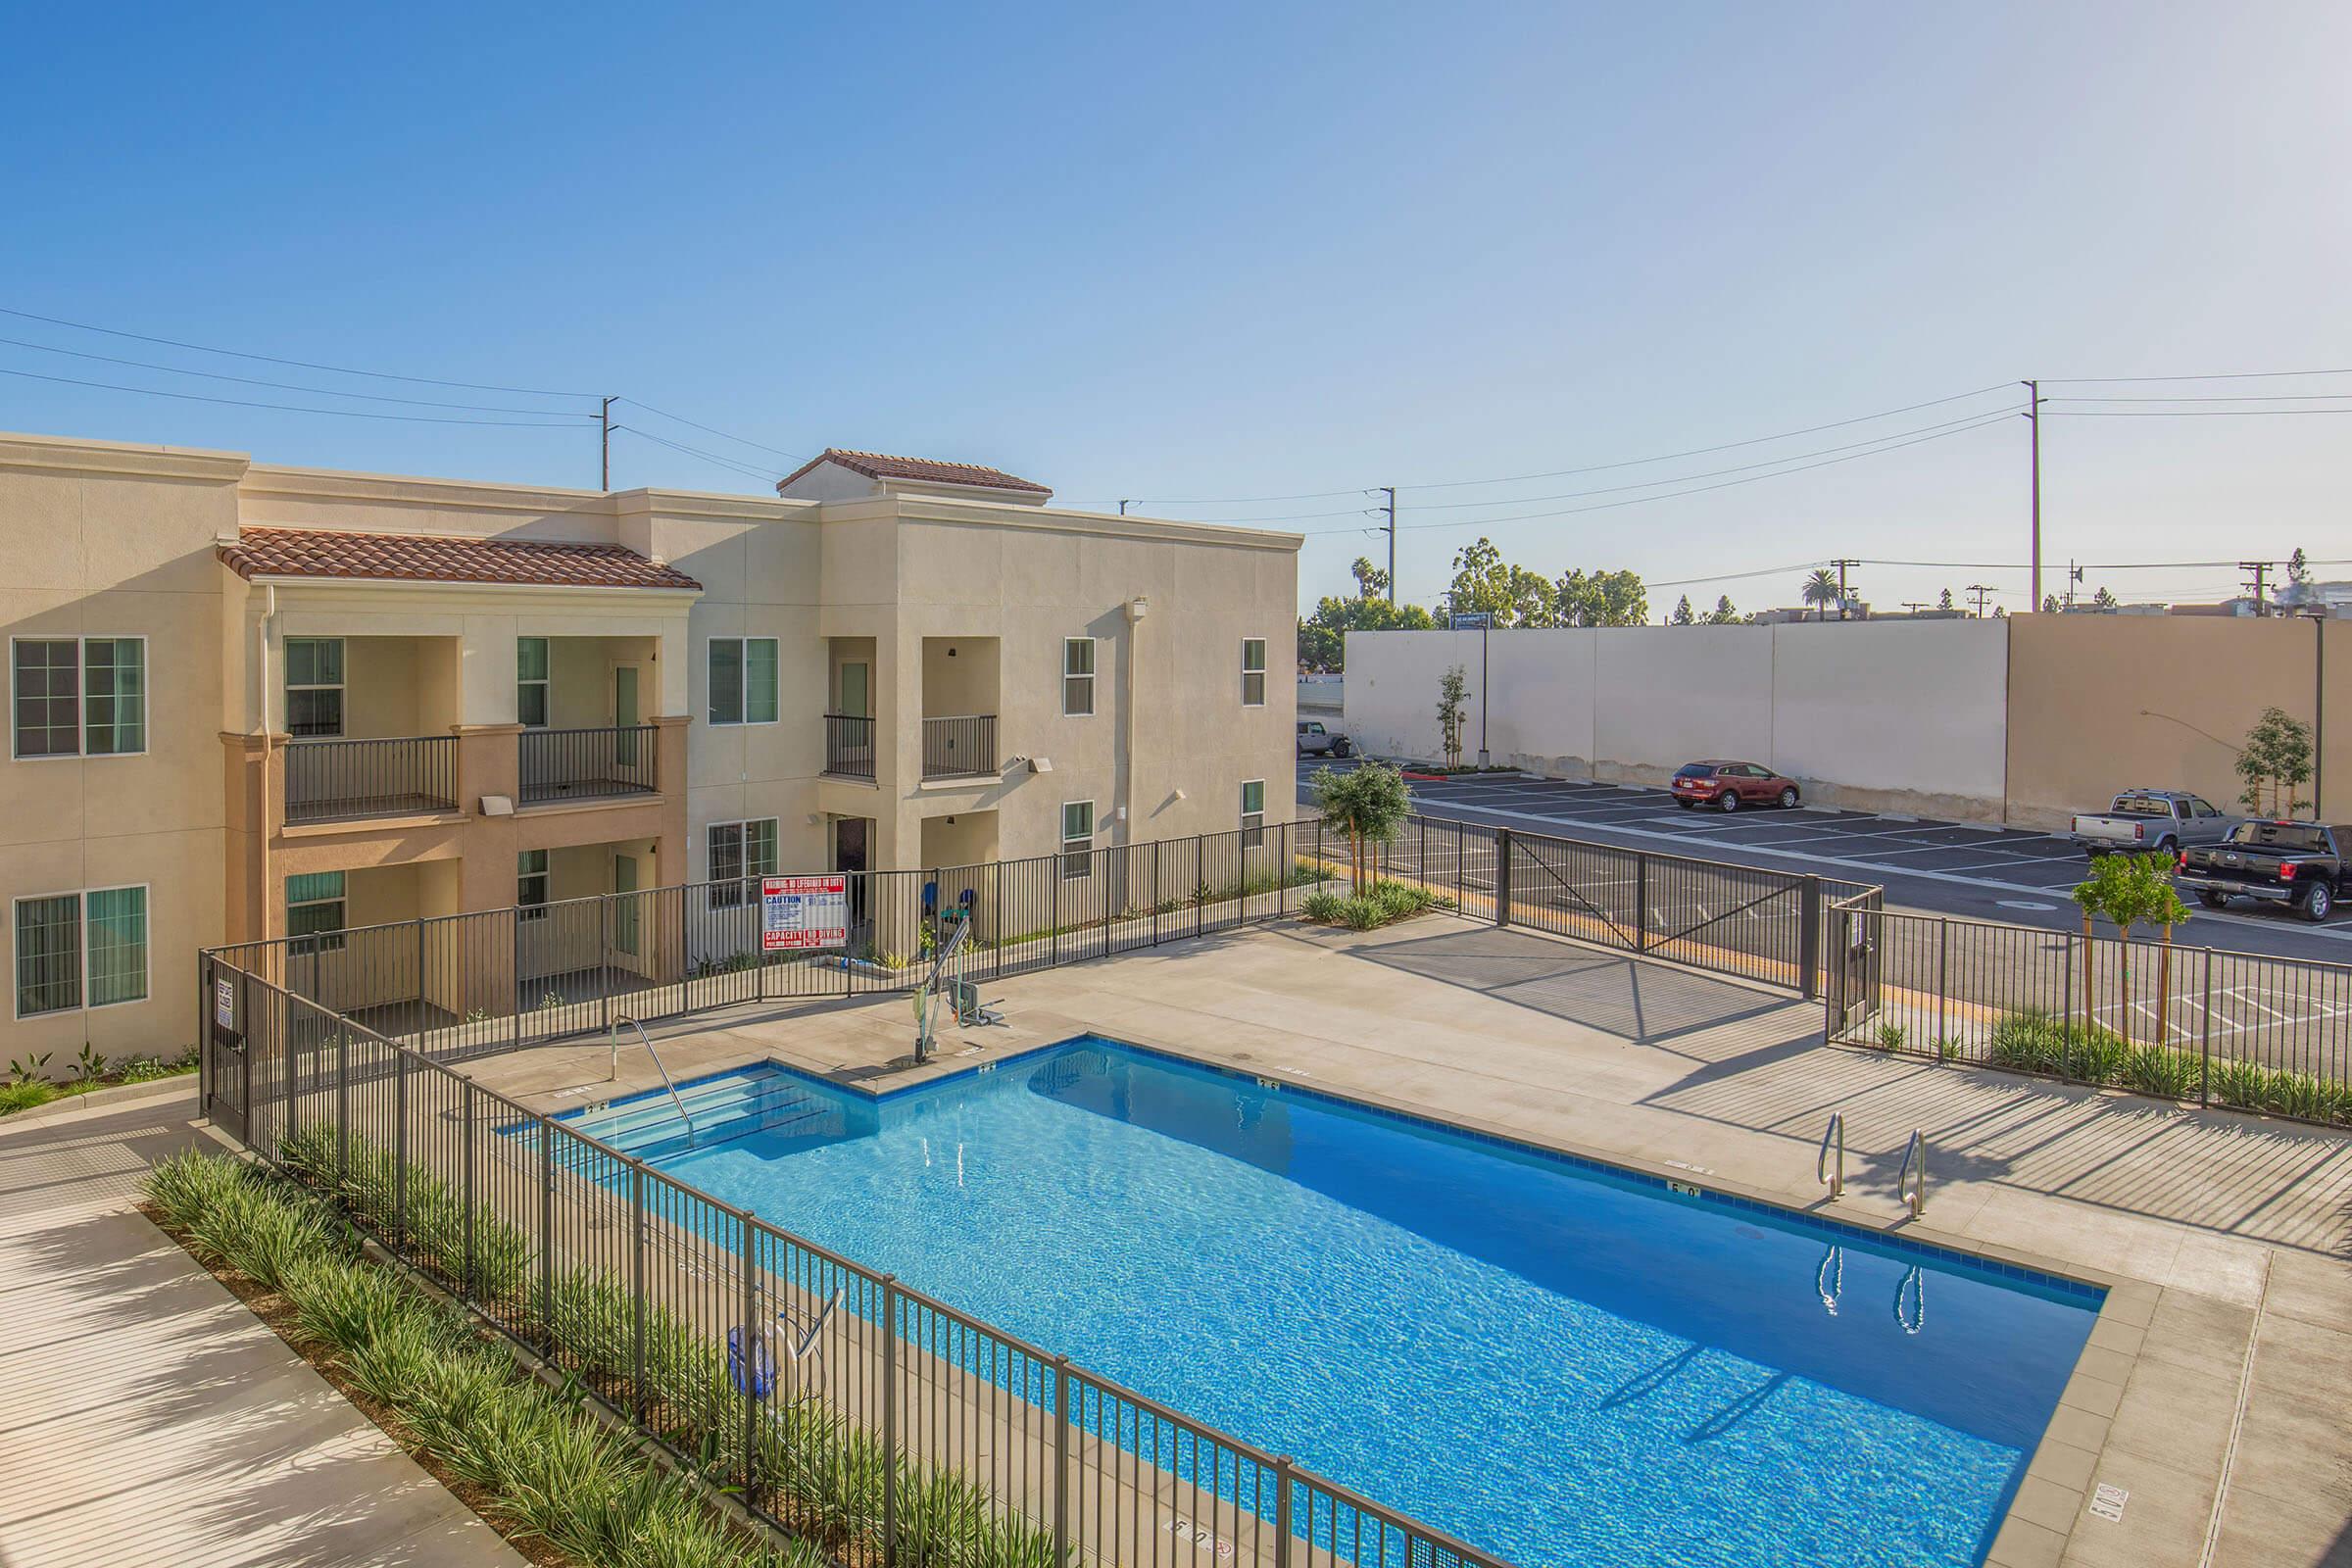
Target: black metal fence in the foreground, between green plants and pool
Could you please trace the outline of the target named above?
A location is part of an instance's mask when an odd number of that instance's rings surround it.
[[[226,990],[223,990],[226,987]],[[207,1105],[760,1519],[847,1563],[1498,1568],[205,959]]]

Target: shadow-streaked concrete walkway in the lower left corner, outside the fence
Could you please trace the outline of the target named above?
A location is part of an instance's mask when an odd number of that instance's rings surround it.
[[[193,1095],[0,1121],[0,1568],[520,1568],[134,1211]]]

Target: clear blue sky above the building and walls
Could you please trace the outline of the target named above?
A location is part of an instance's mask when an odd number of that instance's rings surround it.
[[[42,7],[0,61],[0,306],[445,381],[623,393],[755,442],[997,463],[1073,505],[1312,531],[1402,484],[1402,581],[1489,531],[1743,609],[1797,562],[2020,607],[2020,376],[2352,367],[2340,5]],[[487,407],[0,317],[0,336]],[[0,369],[235,388],[0,343]],[[2291,395],[2321,381],[2046,386]],[[2018,393],[2023,397],[2023,393]],[[2065,404],[2053,404],[2065,407]],[[2093,407],[2093,404],[2074,404]],[[2105,404],[2145,414],[2178,404]],[[2310,404],[2192,404],[2310,407]],[[2347,400],[2340,407],[2352,407]],[[1639,505],[1578,491],[1959,428]],[[480,418],[499,418],[477,414]],[[790,468],[755,447],[623,423]],[[0,376],[0,428],[595,484],[593,430]],[[2058,562],[2352,557],[2352,423],[2049,418]],[[614,482],[757,489],[614,440]],[[1813,461],[1813,458],[1806,458]],[[1691,480],[1715,484],[1715,477]],[[1658,489],[1677,489],[1672,484]],[[1571,496],[1522,501],[1534,496]],[[1482,501],[1484,508],[1437,510]],[[1322,517],[1317,512],[1341,512]],[[1489,527],[1435,527],[1498,520]],[[2352,564],[2324,576],[2352,578]],[[2230,569],[2096,571],[2220,597]],[[2056,571],[2051,574],[2056,588]],[[1665,611],[1682,588],[1653,590]]]

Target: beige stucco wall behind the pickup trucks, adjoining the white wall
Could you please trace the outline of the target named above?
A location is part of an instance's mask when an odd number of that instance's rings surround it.
[[[2237,743],[2263,708],[2310,724],[2319,698],[2312,621],[2234,616],[2020,616],[2009,658],[2009,816],[2060,825],[2117,790],[2194,790],[2237,811]],[[2343,665],[2347,628],[2326,635]],[[2338,670],[2331,668],[2331,675]],[[2331,809],[2352,802],[2352,696],[2331,679],[2324,733]],[[2343,715],[2343,717],[2340,717]]]

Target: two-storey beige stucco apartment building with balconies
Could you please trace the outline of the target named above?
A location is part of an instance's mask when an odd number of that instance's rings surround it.
[[[1298,536],[776,489],[0,435],[7,1056],[188,1044],[214,943],[1287,818]]]

